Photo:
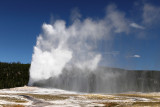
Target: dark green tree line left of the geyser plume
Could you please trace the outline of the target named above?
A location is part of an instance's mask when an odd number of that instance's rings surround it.
[[[0,89],[28,84],[30,64],[0,62]]]

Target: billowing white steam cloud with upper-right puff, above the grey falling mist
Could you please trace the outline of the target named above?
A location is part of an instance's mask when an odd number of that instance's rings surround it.
[[[97,51],[99,41],[108,40],[113,32],[128,32],[124,13],[115,5],[108,6],[103,19],[81,21],[76,16],[72,16],[74,20],[70,26],[66,26],[64,20],[43,24],[43,33],[34,47],[29,84],[58,77],[66,66],[95,70],[102,58]]]

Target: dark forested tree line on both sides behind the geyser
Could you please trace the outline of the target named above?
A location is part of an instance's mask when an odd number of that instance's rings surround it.
[[[0,89],[27,85],[29,81],[29,68],[30,64],[0,62]],[[126,90],[134,91],[160,91],[160,71],[123,70],[118,68],[104,68],[102,71],[104,75],[107,73],[117,75],[116,78],[108,77],[108,79],[120,84],[123,90],[126,87]],[[95,78],[103,79],[101,74],[97,75],[94,73],[99,72],[93,72],[93,75],[88,77],[90,78],[90,85],[95,84]],[[67,76],[67,79],[72,78],[69,75],[64,76]],[[54,81],[51,80],[52,82]],[[119,91],[121,90],[119,89]]]

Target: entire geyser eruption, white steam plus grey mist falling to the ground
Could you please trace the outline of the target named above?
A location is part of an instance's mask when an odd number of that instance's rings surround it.
[[[64,20],[42,25],[43,33],[37,38],[32,56],[29,85],[83,92],[132,89],[117,89],[119,80],[121,83],[125,81],[122,79],[122,75],[126,76],[125,72],[107,72],[107,69],[99,67],[103,59],[102,52],[98,51],[100,42],[109,42],[118,33],[130,32],[125,14],[118,11],[115,5],[109,5],[102,19],[80,20],[79,16],[73,17],[73,23],[69,26]],[[134,84],[132,82],[135,87]]]

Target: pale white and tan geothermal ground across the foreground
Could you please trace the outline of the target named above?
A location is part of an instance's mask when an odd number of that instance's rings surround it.
[[[160,93],[91,94],[17,87],[0,90],[0,107],[160,107]]]

